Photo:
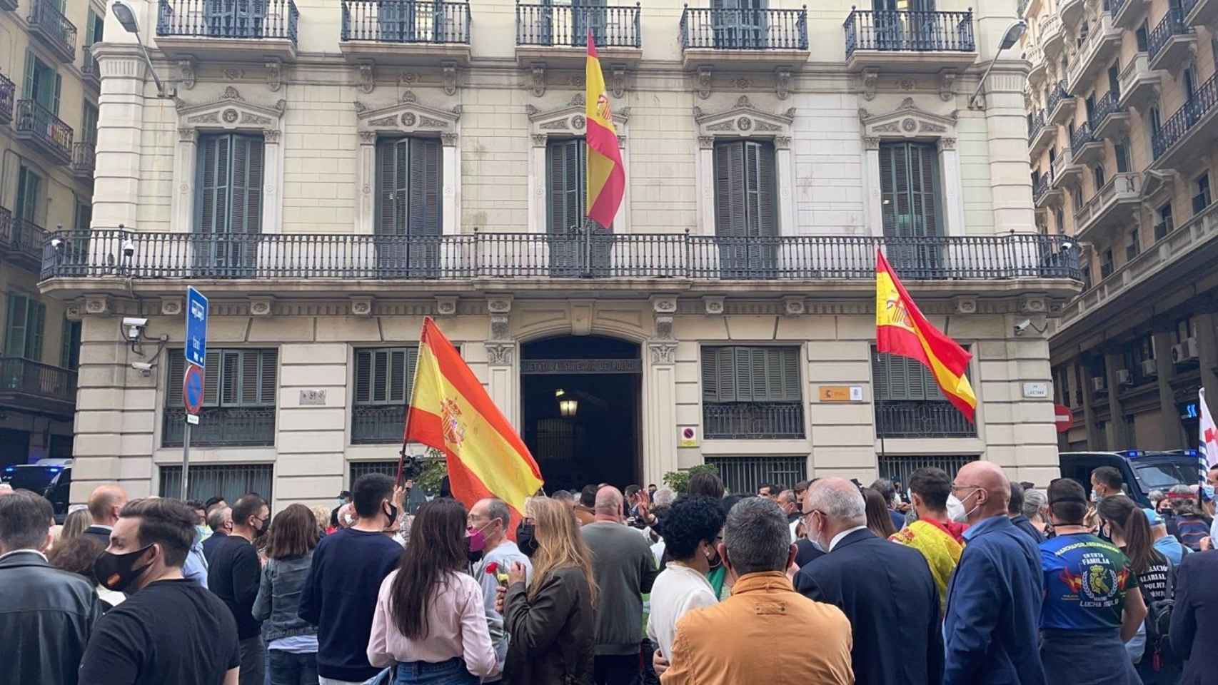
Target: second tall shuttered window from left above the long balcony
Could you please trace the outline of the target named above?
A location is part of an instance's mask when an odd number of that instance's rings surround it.
[[[436,139],[376,141],[376,234],[440,235],[442,152]]]

